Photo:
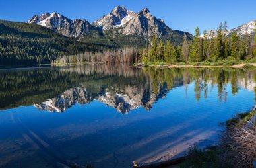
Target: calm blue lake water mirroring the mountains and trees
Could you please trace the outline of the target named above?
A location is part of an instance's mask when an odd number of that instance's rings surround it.
[[[131,167],[218,143],[255,70],[86,65],[0,71],[0,167]]]

